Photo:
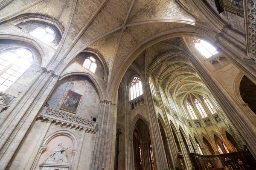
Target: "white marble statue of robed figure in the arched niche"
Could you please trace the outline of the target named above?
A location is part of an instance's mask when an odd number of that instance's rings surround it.
[[[52,153],[50,154],[50,156],[48,156],[43,163],[46,163],[46,162],[69,163],[67,160],[67,156],[65,154],[65,150],[67,150],[70,147],[67,147],[65,149],[61,145],[62,143],[59,143],[58,146],[52,150]]]

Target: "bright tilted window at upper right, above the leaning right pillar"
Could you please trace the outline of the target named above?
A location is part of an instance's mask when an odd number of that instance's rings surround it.
[[[195,38],[194,40],[195,48],[203,54],[205,58],[212,57],[213,55],[217,54],[218,51],[216,51],[216,48],[214,48],[212,45],[210,45],[208,42],[204,40],[200,40],[198,38]]]

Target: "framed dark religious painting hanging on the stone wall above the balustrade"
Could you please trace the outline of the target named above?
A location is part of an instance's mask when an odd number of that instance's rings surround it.
[[[66,96],[64,97],[61,103],[61,107],[59,109],[76,114],[79,108],[79,104],[81,102],[81,98],[82,98],[82,95],[77,94],[74,91],[68,90]]]

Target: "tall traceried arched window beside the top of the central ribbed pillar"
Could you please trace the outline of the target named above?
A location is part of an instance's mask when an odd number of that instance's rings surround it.
[[[131,100],[143,94],[142,83],[139,77],[134,77],[131,81],[130,96]]]

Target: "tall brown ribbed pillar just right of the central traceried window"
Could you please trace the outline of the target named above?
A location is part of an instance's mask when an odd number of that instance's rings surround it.
[[[145,101],[148,104],[147,113],[148,113],[148,122],[149,122],[149,130],[150,130],[150,138],[152,143],[152,148],[154,152],[154,162],[156,164],[156,168],[159,170],[167,169],[168,163],[166,160],[166,154],[163,146],[163,139],[161,136],[161,131],[159,127],[159,123],[157,120],[157,113],[154,108],[154,101],[151,95],[149,82],[145,82]]]

